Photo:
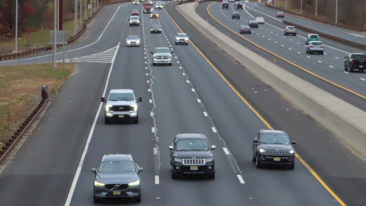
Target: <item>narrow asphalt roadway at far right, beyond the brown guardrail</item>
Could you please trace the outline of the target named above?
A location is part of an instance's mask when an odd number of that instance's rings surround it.
[[[246,3],[246,5],[251,9],[252,11],[258,11],[266,14],[263,16],[264,18],[276,18],[276,14],[279,10],[276,10],[274,8],[267,7],[265,5],[265,2],[258,3],[258,2],[249,2]],[[322,10],[324,8],[318,8],[319,10]],[[334,6],[335,10],[335,6]],[[345,10],[342,10],[340,12],[347,12]],[[315,13],[315,11],[314,11]],[[267,16],[268,15],[268,16]],[[295,23],[297,25],[305,26],[306,28],[313,29],[315,31],[319,31],[321,33],[333,35],[338,38],[343,38],[348,41],[357,42],[359,44],[366,45],[366,33],[362,31],[353,31],[348,29],[343,29],[341,27],[336,27],[332,25],[328,25],[325,23],[317,22],[311,19],[307,19],[301,16],[296,16],[293,14],[289,14],[285,12],[284,18],[279,18],[279,20],[286,20],[291,23]],[[365,51],[364,51],[365,52]]]

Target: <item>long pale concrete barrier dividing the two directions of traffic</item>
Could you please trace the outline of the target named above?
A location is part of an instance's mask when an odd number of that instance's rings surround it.
[[[198,2],[182,4],[176,6],[176,10],[239,63],[366,156],[366,112],[300,79],[232,40],[198,16],[195,12],[197,5]]]

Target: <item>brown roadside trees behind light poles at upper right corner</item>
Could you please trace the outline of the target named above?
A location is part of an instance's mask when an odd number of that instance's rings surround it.
[[[273,0],[272,0],[273,1]],[[286,0],[276,0],[276,6],[285,8]],[[315,17],[315,0],[302,0],[302,14]],[[366,29],[366,1],[338,0],[338,23]],[[300,13],[300,0],[287,0],[287,10]],[[335,22],[336,0],[318,0],[317,18]]]

